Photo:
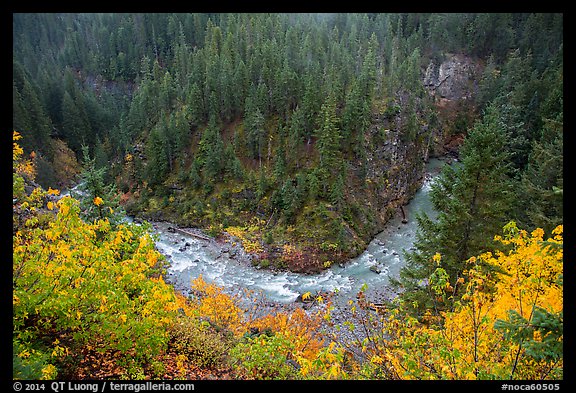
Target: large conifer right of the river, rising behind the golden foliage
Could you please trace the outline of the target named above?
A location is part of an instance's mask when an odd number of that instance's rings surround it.
[[[508,177],[505,125],[498,108],[490,106],[482,121],[470,130],[462,146],[458,168],[444,167],[432,186],[431,198],[437,218],[419,215],[416,250],[407,253],[407,264],[395,285],[404,288],[407,303],[418,309],[433,306],[422,280],[438,267],[433,256],[441,255],[441,267],[455,282],[472,255],[491,251],[492,233],[498,233],[512,211],[512,183]]]

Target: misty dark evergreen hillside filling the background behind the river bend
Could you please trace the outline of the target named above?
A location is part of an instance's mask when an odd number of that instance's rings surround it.
[[[492,101],[519,180],[556,138],[561,43],[555,14],[16,14],[13,123],[45,187],[73,184],[86,145],[129,213],[319,269],[358,254]],[[423,81],[453,54],[475,73],[449,100]]]

